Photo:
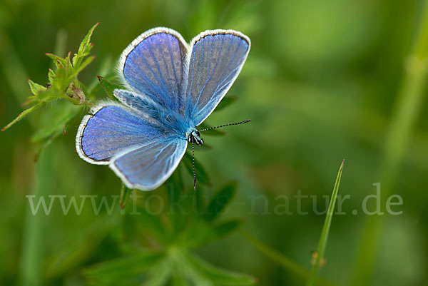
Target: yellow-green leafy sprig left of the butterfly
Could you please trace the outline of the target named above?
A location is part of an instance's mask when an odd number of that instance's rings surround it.
[[[1,131],[6,131],[15,123],[26,118],[30,113],[42,108],[49,103],[54,103],[49,108],[46,108],[44,118],[44,126],[34,133],[31,141],[41,142],[41,148],[36,154],[35,160],[46,146],[52,143],[54,139],[62,133],[66,132],[66,126],[73,118],[76,118],[79,111],[85,107],[93,106],[96,100],[94,96],[94,88],[87,88],[81,81],[78,81],[78,75],[86,68],[95,58],[89,56],[93,44],[91,36],[94,29],[98,26],[95,24],[88,34],[83,38],[78,48],[77,53],[71,56],[71,52],[65,58],[46,53],[46,56],[52,59],[55,71],[49,68],[47,86],[35,83],[28,80],[31,93],[22,106],[30,106],[22,111],[11,123],[4,126]],[[71,104],[68,104],[71,103]]]

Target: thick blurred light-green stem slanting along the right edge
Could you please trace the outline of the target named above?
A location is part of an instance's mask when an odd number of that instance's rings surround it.
[[[392,193],[407,142],[419,115],[420,106],[422,106],[427,79],[428,4],[424,4],[422,19],[417,23],[420,25],[416,28],[419,33],[416,36],[412,51],[407,56],[396,109],[389,126],[382,163],[380,164],[379,178],[382,183],[382,205],[385,205],[387,198]],[[379,215],[372,215],[366,220],[352,285],[370,284],[383,222],[384,217]]]

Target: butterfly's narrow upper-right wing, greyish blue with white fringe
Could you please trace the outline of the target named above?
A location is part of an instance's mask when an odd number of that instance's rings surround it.
[[[190,43],[188,77],[183,81],[185,116],[202,123],[232,86],[250,51],[250,39],[232,30],[205,31]]]

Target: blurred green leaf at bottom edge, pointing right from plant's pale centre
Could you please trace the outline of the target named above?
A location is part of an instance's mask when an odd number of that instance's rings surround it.
[[[188,265],[193,267],[195,272],[197,272],[201,277],[213,282],[213,285],[247,286],[255,285],[255,282],[257,281],[250,275],[221,269],[189,253],[185,254],[185,259],[187,260]]]

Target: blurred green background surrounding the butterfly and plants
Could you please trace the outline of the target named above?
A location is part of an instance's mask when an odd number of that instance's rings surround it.
[[[205,136],[213,150],[197,151],[213,184],[230,180],[238,194],[225,217],[310,269],[335,175],[346,159],[339,193],[350,195],[332,221],[321,276],[332,285],[428,285],[428,108],[424,90],[428,21],[426,1],[17,1],[0,2],[0,125],[21,112],[27,78],[47,83],[58,38],[76,51],[88,29],[96,60],[79,79],[96,81],[105,58],[116,61],[139,34],[168,26],[190,41],[206,29],[235,29],[252,49],[228,95],[238,101],[208,118],[220,125],[251,118],[225,136]],[[65,54],[61,55],[65,56]],[[103,93],[99,93],[103,96]],[[117,211],[94,215],[31,216],[26,195],[118,195],[121,182],[106,167],[74,152],[78,120],[34,163],[32,133],[49,106],[1,133],[0,284],[84,285],[82,269],[120,256],[116,241],[126,224]],[[184,180],[191,185],[187,173]],[[382,218],[362,213],[362,200],[382,185],[402,196]],[[155,191],[156,192],[156,191]],[[287,195],[291,215],[275,213]],[[258,198],[257,200],[255,198]],[[370,205],[373,210],[374,205]],[[352,215],[352,210],[358,210]],[[143,227],[143,226],[142,226]],[[65,250],[76,250],[72,254]],[[64,253],[65,252],[65,253]],[[304,285],[305,279],[270,260],[240,233],[200,248],[220,267],[258,278],[259,285]],[[61,265],[52,263],[69,255]],[[56,257],[56,258],[55,258]],[[30,282],[29,282],[30,281]],[[34,283],[34,284],[32,284]]]

